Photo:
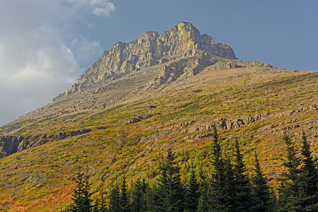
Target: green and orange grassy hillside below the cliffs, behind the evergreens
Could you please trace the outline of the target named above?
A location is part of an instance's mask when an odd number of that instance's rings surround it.
[[[76,172],[88,168],[93,191],[107,191],[123,176],[155,182],[167,149],[177,153],[184,173],[211,165],[211,129],[216,124],[223,151],[234,140],[243,146],[252,172],[253,154],[277,187],[285,158],[283,134],[317,143],[317,73],[284,69],[206,70],[151,95],[102,112],[87,110],[16,123],[18,135],[91,129],[87,134],[52,140],[0,159],[0,211],[57,211],[69,204]],[[93,114],[93,115],[92,115]],[[182,175],[182,179],[187,179]]]

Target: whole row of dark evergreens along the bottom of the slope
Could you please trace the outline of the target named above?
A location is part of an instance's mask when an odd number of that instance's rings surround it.
[[[128,212],[128,211],[318,211],[317,158],[312,157],[310,143],[302,134],[301,156],[290,137],[283,136],[287,159],[278,195],[269,187],[255,153],[254,175],[249,177],[238,141],[234,158],[224,155],[216,127],[213,128],[211,175],[194,172],[182,182],[175,154],[168,151],[160,163],[156,184],[136,180],[127,189],[126,180],[114,184],[110,194],[91,199],[89,176],[78,174],[73,203],[62,211]],[[232,159],[232,160],[231,160]],[[199,176],[197,176],[199,175]]]

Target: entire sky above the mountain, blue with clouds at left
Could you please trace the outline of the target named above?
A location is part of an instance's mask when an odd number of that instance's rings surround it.
[[[0,125],[63,93],[115,42],[181,21],[236,57],[318,70],[318,1],[0,0]]]

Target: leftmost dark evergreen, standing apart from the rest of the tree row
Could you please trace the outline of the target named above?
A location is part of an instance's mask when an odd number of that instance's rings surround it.
[[[88,182],[89,175],[86,172],[86,175],[83,173],[78,173],[76,179],[76,189],[73,191],[73,204],[71,211],[76,212],[88,212],[92,210],[90,196],[93,193],[90,193],[90,183]]]

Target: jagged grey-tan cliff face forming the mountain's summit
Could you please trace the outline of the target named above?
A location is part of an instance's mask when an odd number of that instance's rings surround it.
[[[66,90],[66,95],[81,91],[92,83],[118,78],[177,57],[191,57],[201,54],[202,51],[235,59],[230,46],[215,44],[211,36],[201,35],[191,23],[179,23],[163,35],[146,32],[133,42],[117,42],[112,49],[104,52],[102,58],[95,62],[71,89]]]

